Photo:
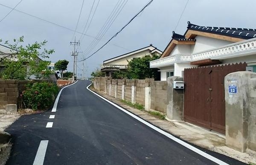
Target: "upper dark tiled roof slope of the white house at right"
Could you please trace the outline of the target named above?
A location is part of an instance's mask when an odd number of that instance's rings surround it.
[[[251,39],[256,37],[256,29],[253,28],[223,28],[223,27],[210,27],[198,26],[188,21],[188,30],[202,31],[212,34],[219,34],[229,37],[236,37],[241,39]]]

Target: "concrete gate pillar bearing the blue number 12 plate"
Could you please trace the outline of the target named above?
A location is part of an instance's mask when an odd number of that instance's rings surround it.
[[[226,145],[241,152],[244,152],[248,147],[248,131],[253,132],[248,130],[250,124],[248,120],[249,118],[253,120],[253,115],[250,115],[250,92],[253,90],[250,89],[251,78],[256,78],[256,73],[238,71],[228,74],[224,80]]]

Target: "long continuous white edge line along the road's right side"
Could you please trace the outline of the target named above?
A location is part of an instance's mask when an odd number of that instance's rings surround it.
[[[90,81],[91,81],[91,80],[90,80]],[[93,82],[93,81],[92,81],[92,82]],[[91,84],[90,84],[90,85],[91,85]],[[215,162],[215,163],[217,163],[217,164],[219,164],[219,165],[229,165],[229,164],[227,164],[226,162],[223,162],[223,161],[221,161],[220,159],[217,159],[217,158],[215,158],[214,156],[211,156],[211,155],[205,153],[204,151],[201,151],[201,150],[199,150],[198,148],[195,148],[194,146],[189,145],[189,144],[186,143],[186,142],[183,142],[182,140],[178,139],[177,137],[172,136],[171,134],[169,134],[169,133],[167,133],[167,132],[161,130],[160,128],[157,128],[156,126],[152,125],[151,123],[149,123],[149,122],[147,122],[147,121],[141,119],[140,117],[137,117],[136,115],[132,114],[131,112],[125,110],[124,108],[120,107],[119,105],[116,105],[115,103],[113,103],[113,102],[107,100],[106,98],[100,96],[99,94],[97,94],[97,93],[95,93],[94,91],[92,91],[92,90],[89,89],[90,85],[87,86],[87,89],[88,89],[89,91],[91,91],[93,94],[95,94],[96,96],[102,98],[102,99],[105,100],[106,102],[110,103],[111,105],[115,106],[116,108],[120,109],[121,111],[125,112],[126,114],[130,115],[131,117],[133,117],[133,118],[139,120],[139,121],[142,122],[143,124],[145,124],[145,125],[147,125],[148,127],[154,129],[155,131],[159,132],[160,134],[163,134],[163,135],[165,135],[166,137],[169,137],[169,138],[172,139],[173,141],[179,143],[180,145],[183,145],[184,147],[190,149],[191,151],[194,151],[195,153],[197,153],[197,154],[199,154],[199,155],[201,155],[201,156],[204,156],[205,158],[211,160],[212,162]]]

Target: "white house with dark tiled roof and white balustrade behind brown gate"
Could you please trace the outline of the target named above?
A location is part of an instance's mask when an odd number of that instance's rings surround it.
[[[256,29],[198,26],[188,21],[185,34],[173,31],[172,40],[160,59],[150,62],[159,68],[161,81],[183,77],[184,68],[225,63],[247,63],[256,72]]]

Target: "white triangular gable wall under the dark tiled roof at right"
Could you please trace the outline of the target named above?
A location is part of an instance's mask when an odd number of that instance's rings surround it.
[[[195,39],[196,39],[195,45],[191,46],[192,54],[233,43],[230,41],[219,40],[219,39],[203,37],[203,36],[196,36]]]

